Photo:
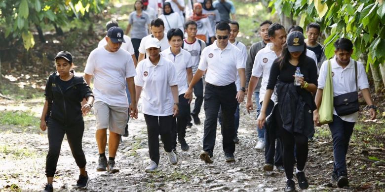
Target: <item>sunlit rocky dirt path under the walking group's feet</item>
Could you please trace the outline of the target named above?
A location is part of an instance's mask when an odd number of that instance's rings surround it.
[[[41,102],[40,102],[41,101]],[[39,114],[42,100],[25,104],[25,108]],[[2,103],[0,110],[11,110],[16,103]],[[38,107],[37,107],[38,106]],[[217,129],[217,140],[214,150],[214,163],[205,164],[198,159],[202,149],[203,126],[194,125],[187,130],[187,142],[190,150],[182,152],[177,148],[179,158],[177,165],[170,165],[162,147],[160,150],[159,168],[154,173],[145,173],[149,163],[147,131],[143,114],[137,120],[130,120],[129,136],[123,138],[116,156],[120,173],[109,174],[96,172],[97,146],[94,138],[95,118],[85,117],[86,129],[83,136],[83,150],[87,159],[87,170],[91,182],[88,191],[92,192],[133,192],[133,191],[282,191],[286,179],[282,172],[265,172],[262,170],[264,155],[254,148],[257,133],[255,130],[255,113],[247,114],[241,105],[239,127],[240,143],[236,145],[236,161],[227,163],[222,150],[222,136]],[[23,108],[19,108],[23,110]],[[204,120],[204,114],[200,114]],[[38,118],[38,117],[37,117]],[[21,191],[39,191],[46,182],[44,175],[45,156],[48,151],[46,132],[37,128],[0,127],[0,147],[8,147],[8,154],[0,153],[0,191],[10,191],[16,184]],[[354,188],[337,189],[330,184],[333,155],[329,142],[310,143],[307,175],[310,183],[308,191],[353,191]],[[2,149],[2,152],[5,150]],[[15,152],[19,152],[19,155]],[[318,157],[317,157],[318,156]],[[322,158],[320,158],[322,157]],[[77,166],[72,158],[68,143],[62,144],[61,156],[54,179],[55,191],[76,191],[73,185],[78,177]],[[295,182],[296,179],[295,179]],[[350,182],[357,186],[361,181]],[[327,187],[330,186],[330,187]],[[298,189],[298,186],[297,186]]]

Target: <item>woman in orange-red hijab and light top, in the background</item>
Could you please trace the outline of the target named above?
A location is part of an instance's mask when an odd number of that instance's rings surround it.
[[[208,37],[211,37],[211,42],[214,41],[214,31],[211,27],[210,21],[207,15],[202,14],[202,4],[199,2],[194,3],[193,14],[190,17],[197,24],[198,31],[196,32],[196,38],[208,43]]]

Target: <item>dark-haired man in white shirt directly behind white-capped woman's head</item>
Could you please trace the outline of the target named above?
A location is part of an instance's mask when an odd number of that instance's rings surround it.
[[[160,41],[160,51],[166,50],[170,47],[168,44],[167,35],[164,34],[164,23],[163,20],[157,18],[151,21],[150,24],[150,31],[152,34],[149,34],[145,37],[143,37],[142,41],[139,45],[139,57],[138,57],[138,63],[142,60],[144,60],[146,55],[146,41],[150,38],[157,38]]]

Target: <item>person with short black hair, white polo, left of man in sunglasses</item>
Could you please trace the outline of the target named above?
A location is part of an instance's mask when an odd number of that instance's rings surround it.
[[[177,122],[171,130],[173,136],[173,146],[172,150],[176,152],[176,139],[178,133],[178,141],[181,144],[182,151],[189,150],[189,145],[186,143],[186,126],[188,121],[188,116],[190,115],[190,101],[192,96],[188,99],[185,98],[185,92],[188,85],[192,80],[192,58],[191,54],[182,49],[183,42],[183,32],[180,29],[170,29],[167,32],[168,43],[170,48],[162,51],[161,56],[170,60],[178,74],[178,92],[179,92],[179,114],[176,118]]]

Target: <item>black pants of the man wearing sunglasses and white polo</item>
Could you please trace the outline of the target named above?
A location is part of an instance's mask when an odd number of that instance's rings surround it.
[[[231,83],[227,86],[214,86],[206,84],[204,94],[204,121],[203,150],[213,156],[215,138],[217,132],[219,107],[222,108],[222,145],[225,153],[233,154],[235,151],[234,137],[234,113],[237,106],[236,86]]]

